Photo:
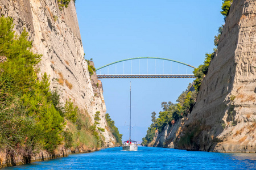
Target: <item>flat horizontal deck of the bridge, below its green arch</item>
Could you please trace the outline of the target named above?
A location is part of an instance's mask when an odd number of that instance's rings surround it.
[[[196,78],[193,74],[100,74],[98,79],[125,78]]]

